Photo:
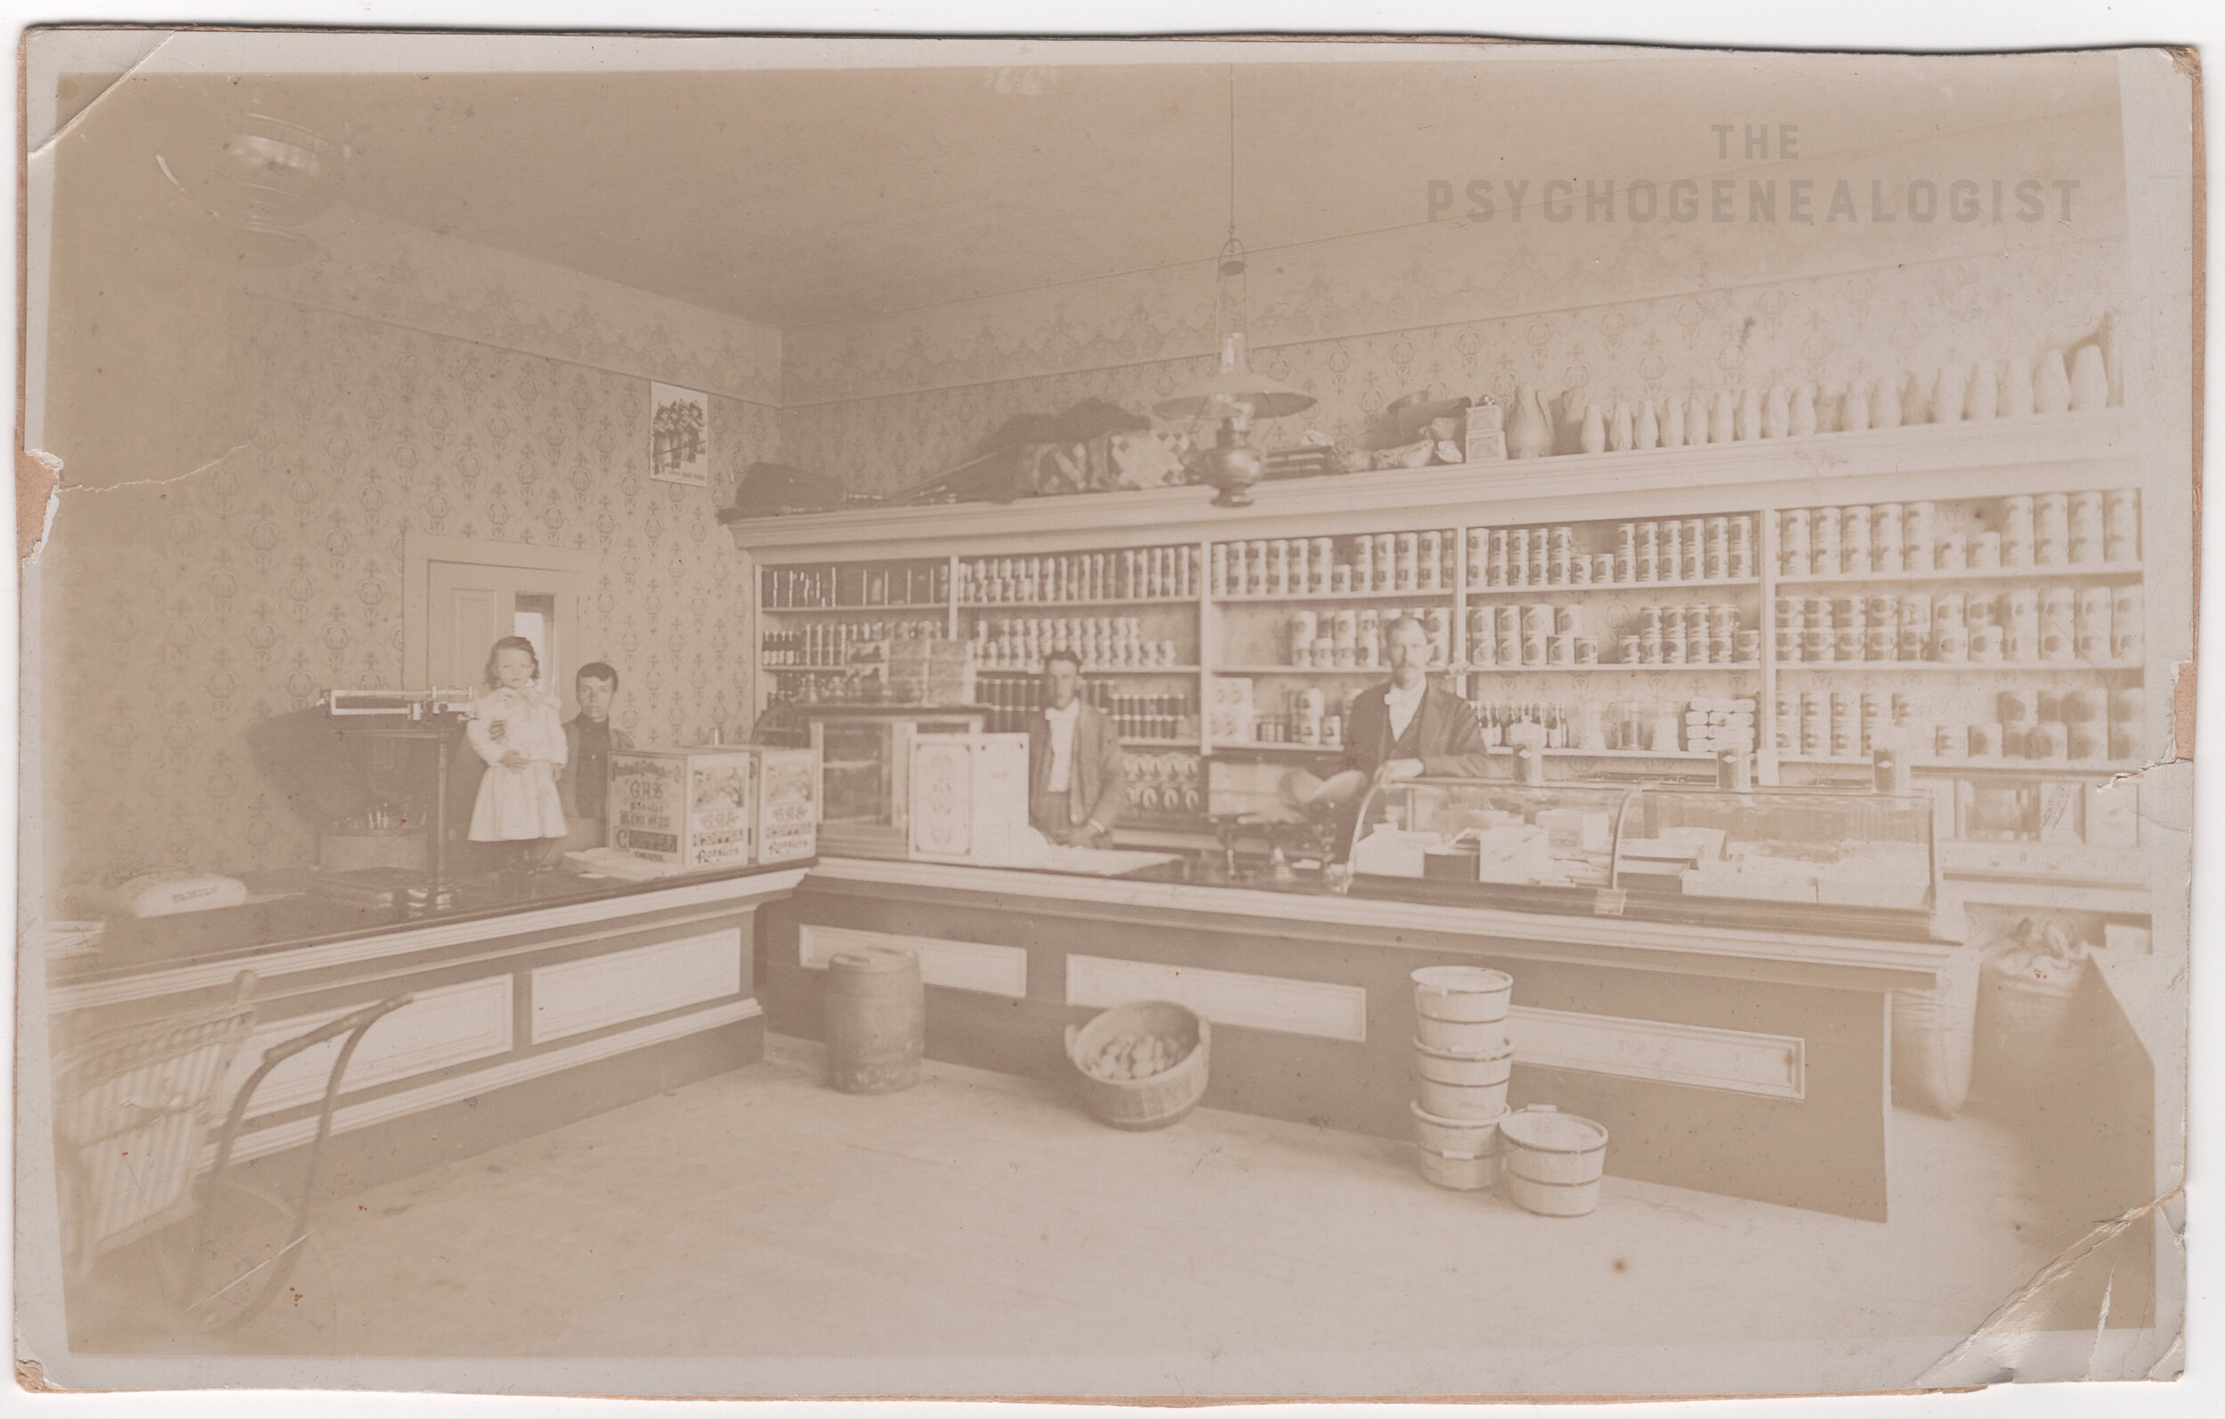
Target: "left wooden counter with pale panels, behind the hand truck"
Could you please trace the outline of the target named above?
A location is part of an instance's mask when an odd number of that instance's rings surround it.
[[[229,923],[162,919],[140,923],[151,930],[136,945],[127,927],[116,950],[56,963],[47,1008],[60,1043],[218,1001],[240,970],[256,972],[256,1030],[229,1101],[267,1045],[409,992],[414,1003],[363,1039],[334,1112],[327,1181],[356,1190],[754,1063],[765,1030],[754,916],[803,872],[556,883],[543,887],[550,901],[305,939],[283,927],[329,921],[329,907],[287,899],[260,916],[236,907]],[[280,1165],[276,1154],[312,1137],[334,1048],[263,1083],[238,1159]]]

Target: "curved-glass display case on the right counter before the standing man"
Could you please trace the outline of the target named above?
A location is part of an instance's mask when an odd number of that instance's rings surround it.
[[[1940,803],[1927,792],[1375,785],[1353,890],[1517,910],[1931,936]]]

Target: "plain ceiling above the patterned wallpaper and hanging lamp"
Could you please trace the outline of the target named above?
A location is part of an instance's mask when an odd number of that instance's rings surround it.
[[[2112,56],[1253,64],[1237,225],[1264,251],[1420,222],[1433,178],[1720,171],[1715,122],[1796,122],[1802,156],[2027,122],[2114,107],[2114,76]],[[140,162],[100,133],[254,96],[347,131],[352,205],[792,329],[1210,258],[1228,91],[1195,62],[138,76],[71,147]]]

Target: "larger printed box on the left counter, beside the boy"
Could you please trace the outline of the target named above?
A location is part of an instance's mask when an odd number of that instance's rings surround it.
[[[610,845],[652,863],[745,867],[754,781],[752,750],[612,750]]]

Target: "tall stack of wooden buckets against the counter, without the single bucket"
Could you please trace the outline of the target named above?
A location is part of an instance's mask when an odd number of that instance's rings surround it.
[[[1422,1177],[1440,1188],[1480,1190],[1500,1174],[1500,1114],[1515,1052],[1506,1005],[1515,981],[1482,965],[1413,972],[1413,1132]]]

